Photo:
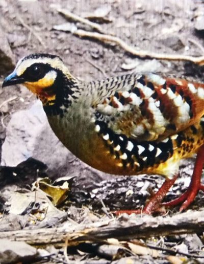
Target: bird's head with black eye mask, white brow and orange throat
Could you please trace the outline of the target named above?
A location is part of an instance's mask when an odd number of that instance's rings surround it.
[[[43,105],[52,105],[69,93],[64,90],[68,90],[74,81],[75,78],[60,57],[31,54],[18,61],[16,68],[5,78],[2,86],[23,84],[41,99]]]

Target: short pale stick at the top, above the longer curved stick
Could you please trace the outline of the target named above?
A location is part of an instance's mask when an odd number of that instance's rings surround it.
[[[88,25],[88,26],[90,26],[91,28],[93,28],[93,29],[95,29],[95,30],[97,30],[98,32],[103,32],[103,29],[97,24],[97,23],[93,23],[93,22],[91,22],[91,21],[89,21],[88,19],[86,19],[86,18],[83,18],[83,17],[81,17],[81,16],[78,16],[78,15],[76,15],[76,14],[73,14],[73,13],[71,13],[71,12],[69,12],[68,10],[66,10],[66,9],[58,9],[57,10],[59,13],[61,13],[61,14],[63,14],[64,16],[66,16],[67,18],[69,18],[69,19],[72,19],[72,20],[74,20],[74,21],[78,21],[78,22],[81,22],[81,23],[83,23],[83,24],[85,24],[85,25]]]

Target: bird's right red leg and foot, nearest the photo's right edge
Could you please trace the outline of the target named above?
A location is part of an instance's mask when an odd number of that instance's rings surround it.
[[[187,191],[184,194],[182,194],[179,198],[168,203],[163,203],[162,205],[164,205],[165,207],[171,207],[183,203],[183,205],[180,208],[180,212],[182,212],[194,201],[195,196],[197,195],[199,190],[202,190],[204,192],[204,185],[202,185],[200,182],[203,165],[204,165],[204,145],[202,145],[198,149],[197,157],[195,161],[195,167],[191,178],[191,183]]]

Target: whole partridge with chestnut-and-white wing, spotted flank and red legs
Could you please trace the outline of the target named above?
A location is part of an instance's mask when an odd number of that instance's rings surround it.
[[[73,155],[115,175],[158,174],[161,188],[144,206],[152,214],[181,204],[199,190],[204,165],[204,84],[156,73],[130,73],[83,82],[57,55],[21,58],[3,87],[23,84],[41,100],[50,127]],[[180,176],[182,159],[197,154],[191,182],[177,199],[163,203]],[[120,213],[141,210],[118,210]]]

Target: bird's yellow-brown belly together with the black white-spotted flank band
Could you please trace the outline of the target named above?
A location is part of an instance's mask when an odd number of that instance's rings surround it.
[[[159,142],[138,142],[117,135],[109,128],[97,133],[94,126],[90,126],[91,131],[81,128],[70,135],[64,122],[59,120],[57,125],[52,122],[50,125],[75,156],[95,169],[118,175],[149,173],[172,178],[179,169],[180,160],[191,157],[204,143],[203,123],[200,120],[177,135]]]

